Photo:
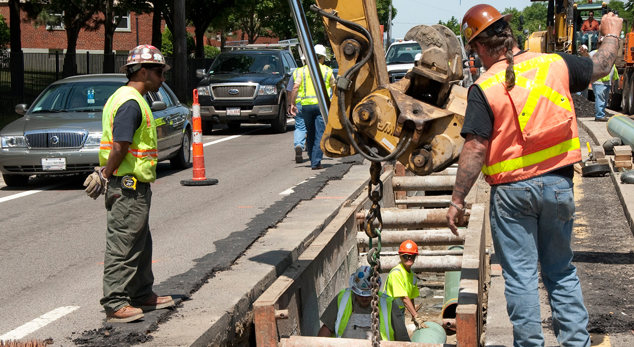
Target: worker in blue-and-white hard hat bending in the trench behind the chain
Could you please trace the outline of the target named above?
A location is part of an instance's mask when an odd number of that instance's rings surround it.
[[[372,339],[372,269],[361,266],[348,280],[349,288],[339,292],[320,317],[319,337]],[[378,287],[381,286],[378,277]],[[410,341],[401,311],[393,304],[394,298],[378,292],[379,333],[382,341]]]

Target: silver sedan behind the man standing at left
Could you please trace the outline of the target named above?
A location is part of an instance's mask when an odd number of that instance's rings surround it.
[[[53,82],[24,116],[0,131],[0,172],[8,186],[23,186],[32,175],[89,173],[99,166],[101,112],[127,78],[122,74],[81,75]],[[191,112],[168,86],[145,96],[157,120],[159,161],[174,168],[191,162]]]

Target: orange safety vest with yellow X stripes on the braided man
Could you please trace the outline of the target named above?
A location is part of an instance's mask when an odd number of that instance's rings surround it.
[[[486,181],[539,176],[581,160],[566,62],[556,54],[522,52],[514,58],[515,87],[505,89],[505,59],[475,84],[493,111],[493,133],[482,167]]]

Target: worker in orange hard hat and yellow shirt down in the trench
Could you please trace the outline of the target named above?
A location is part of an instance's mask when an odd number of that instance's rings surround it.
[[[411,266],[414,265],[418,256],[418,245],[412,240],[405,240],[399,247],[398,254],[401,262],[394,266],[387,275],[385,294],[396,299],[395,302],[403,313],[403,322],[405,321],[405,309],[407,309],[417,329],[426,328],[427,325],[425,325],[423,318],[418,315],[414,304],[414,298],[418,298],[420,292],[417,285],[418,278],[411,271]]]

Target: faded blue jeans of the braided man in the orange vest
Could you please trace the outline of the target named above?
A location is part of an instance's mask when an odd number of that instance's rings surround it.
[[[553,330],[563,347],[588,347],[588,311],[571,261],[573,181],[543,174],[491,186],[491,233],[500,259],[514,347],[544,346],[537,263],[548,292]]]

